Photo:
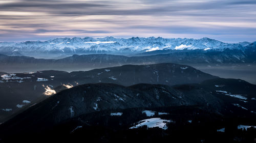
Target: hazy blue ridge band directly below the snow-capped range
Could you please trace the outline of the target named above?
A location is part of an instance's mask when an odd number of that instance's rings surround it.
[[[225,49],[224,51],[179,51],[147,56],[123,56],[110,54],[72,55],[58,60],[35,59],[28,56],[0,54],[0,71],[28,72],[38,70],[78,71],[122,65],[147,65],[157,63],[191,64],[253,64],[255,47],[245,51]],[[15,67],[15,68],[14,68]]]

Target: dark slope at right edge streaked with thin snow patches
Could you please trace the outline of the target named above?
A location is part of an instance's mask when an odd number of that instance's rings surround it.
[[[210,79],[203,81],[200,88],[225,101],[232,110],[243,110],[256,113],[256,85],[241,79]]]

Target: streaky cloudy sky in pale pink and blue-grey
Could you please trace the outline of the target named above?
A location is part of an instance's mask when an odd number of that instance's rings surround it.
[[[256,41],[255,0],[0,0],[0,41],[56,37]]]

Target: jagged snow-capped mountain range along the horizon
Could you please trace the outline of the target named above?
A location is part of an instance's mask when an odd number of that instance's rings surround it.
[[[224,43],[209,38],[187,39],[187,38],[139,38],[118,39],[114,37],[105,38],[56,38],[48,41],[26,41],[20,43],[0,42],[0,53],[7,55],[27,55],[36,58],[55,58],[57,56],[72,54],[138,54],[152,51],[167,53],[176,50],[202,50],[223,51],[225,49],[244,50],[246,46],[253,44],[241,42],[237,44]]]

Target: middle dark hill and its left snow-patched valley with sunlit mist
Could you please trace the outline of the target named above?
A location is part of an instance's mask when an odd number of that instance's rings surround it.
[[[2,74],[0,78],[0,116],[2,120],[16,110],[35,103],[43,96],[85,83],[116,83],[130,86],[138,83],[185,84],[218,78],[193,67],[179,64],[124,65],[91,71],[38,71]],[[60,88],[60,89],[59,89]]]

